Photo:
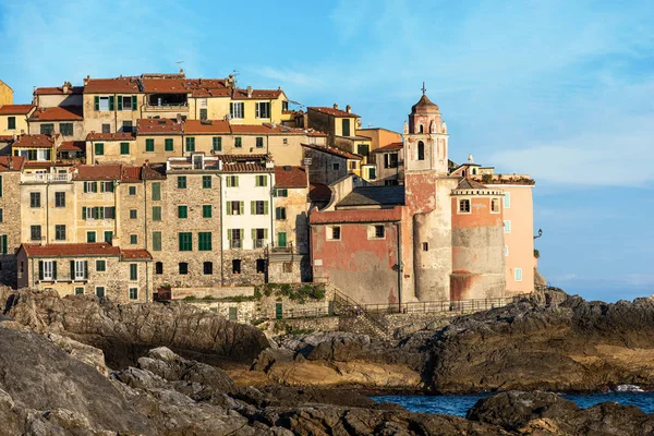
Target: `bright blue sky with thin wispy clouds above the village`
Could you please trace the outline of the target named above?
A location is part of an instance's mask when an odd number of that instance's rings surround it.
[[[0,78],[175,72],[281,86],[400,131],[421,96],[450,158],[529,173],[540,270],[591,300],[654,293],[652,1],[0,0]]]

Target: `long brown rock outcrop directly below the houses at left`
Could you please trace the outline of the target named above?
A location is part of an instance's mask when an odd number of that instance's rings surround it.
[[[17,298],[16,298],[17,295]],[[206,363],[247,362],[268,347],[253,326],[231,323],[190,304],[116,304],[93,295],[21,290],[10,294],[5,315],[35,331],[52,332],[101,349],[107,364],[134,365],[148,350],[166,346]]]

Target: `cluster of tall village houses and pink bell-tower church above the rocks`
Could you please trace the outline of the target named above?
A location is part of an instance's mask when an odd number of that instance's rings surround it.
[[[438,106],[416,100],[393,132],[231,75],[87,76],[26,104],[0,81],[0,280],[120,302],[533,291],[534,181],[450,160]]]

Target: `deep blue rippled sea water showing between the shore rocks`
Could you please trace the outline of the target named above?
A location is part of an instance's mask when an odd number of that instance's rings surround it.
[[[382,396],[372,397],[375,401],[400,404],[412,412],[440,413],[465,416],[465,412],[481,399],[492,393],[464,396]],[[582,409],[601,402],[615,401],[625,405],[635,405],[645,413],[654,413],[654,392],[609,392],[590,395],[561,395],[574,401]]]

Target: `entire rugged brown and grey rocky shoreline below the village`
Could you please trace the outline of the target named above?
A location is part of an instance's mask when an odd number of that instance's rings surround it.
[[[580,410],[544,391],[654,385],[649,299],[523,301],[387,342],[270,340],[182,303],[0,298],[0,434],[654,434],[637,408]],[[479,391],[499,393],[465,419],[366,397]]]

